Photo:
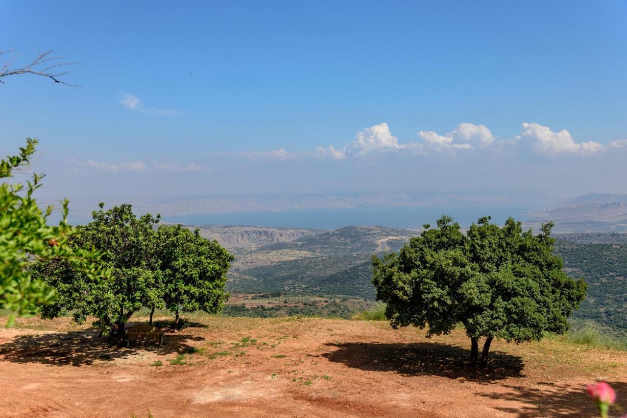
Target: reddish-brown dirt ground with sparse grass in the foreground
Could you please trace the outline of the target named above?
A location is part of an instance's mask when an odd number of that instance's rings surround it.
[[[587,417],[595,380],[627,407],[623,352],[497,341],[490,367],[469,370],[462,330],[190,319],[162,348],[110,347],[68,318],[20,320],[0,331],[0,417]]]

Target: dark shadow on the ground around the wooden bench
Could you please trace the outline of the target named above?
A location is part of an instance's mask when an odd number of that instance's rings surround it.
[[[130,357],[139,350],[167,355],[191,350],[189,341],[201,341],[182,333],[167,335],[167,344],[145,342],[130,348],[110,345],[107,337],[98,337],[99,330],[55,332],[41,335],[19,335],[12,342],[0,345],[1,360],[16,363],[38,362],[46,365],[89,365],[95,360]]]

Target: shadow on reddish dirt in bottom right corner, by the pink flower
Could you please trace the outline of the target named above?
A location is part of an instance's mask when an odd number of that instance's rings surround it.
[[[594,382],[590,382],[594,383]],[[616,404],[627,408],[627,383],[608,382],[616,390]],[[582,385],[554,385],[538,382],[535,387],[504,385],[506,393],[478,393],[490,399],[510,400],[519,403],[516,407],[495,407],[497,410],[514,414],[518,418],[535,417],[598,417],[595,402]],[[520,405],[522,404],[522,405]],[[627,410],[616,407],[610,416],[622,415]]]

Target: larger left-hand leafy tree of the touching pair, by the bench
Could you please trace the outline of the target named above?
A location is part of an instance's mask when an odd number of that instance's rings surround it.
[[[78,323],[87,316],[98,318],[95,326],[122,335],[124,325],[142,306],[150,306],[162,295],[161,271],[156,257],[154,226],[150,214],[137,217],[129,204],[92,212],[93,221],[78,226],[75,248],[93,246],[102,251],[102,264],[111,279],[93,281],[63,260],[36,263],[36,274],[55,288],[55,303],[43,308],[53,318],[71,311]]]

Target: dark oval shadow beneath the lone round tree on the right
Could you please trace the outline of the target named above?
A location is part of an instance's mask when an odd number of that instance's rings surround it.
[[[485,368],[467,367],[470,350],[435,342],[421,343],[327,343],[336,347],[322,354],[332,362],[376,372],[397,372],[404,376],[435,375],[475,382],[524,377],[522,358],[491,352]]]

